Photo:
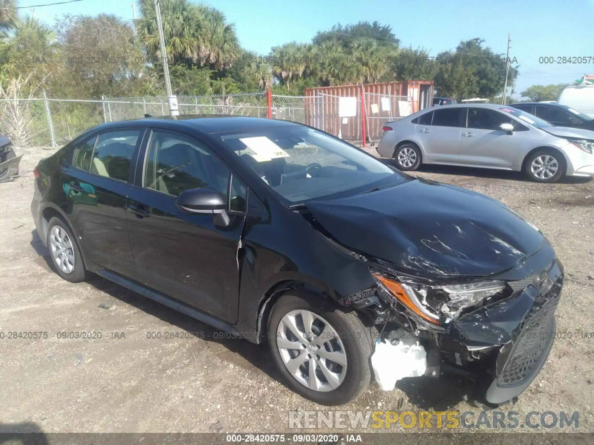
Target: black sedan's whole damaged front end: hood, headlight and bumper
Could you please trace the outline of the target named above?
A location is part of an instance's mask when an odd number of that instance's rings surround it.
[[[375,277],[342,303],[367,314],[382,341],[394,332],[418,340],[425,376],[470,380],[470,401],[486,408],[515,401],[535,379],[554,341],[564,274],[530,221],[424,180],[307,208],[314,228]]]

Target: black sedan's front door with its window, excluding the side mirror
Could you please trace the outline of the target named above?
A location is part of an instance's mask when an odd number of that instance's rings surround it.
[[[135,180],[128,195],[136,280],[211,316],[236,323],[237,255],[247,187],[232,177],[210,148],[190,136],[153,131],[145,152],[139,160],[144,162],[143,178]],[[201,187],[215,189],[232,202],[228,227],[214,225],[213,215],[187,214],[175,205],[179,193]]]

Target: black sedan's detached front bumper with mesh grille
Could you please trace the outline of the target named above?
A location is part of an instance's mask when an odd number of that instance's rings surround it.
[[[460,317],[448,335],[440,335],[441,356],[450,362],[444,370],[469,371],[488,403],[520,395],[551,351],[563,268],[555,261],[544,274],[540,289],[528,284],[510,298]]]

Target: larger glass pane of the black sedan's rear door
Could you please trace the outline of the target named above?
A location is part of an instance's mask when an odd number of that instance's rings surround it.
[[[139,136],[140,130],[120,130],[100,134],[93,151],[91,173],[127,181]]]

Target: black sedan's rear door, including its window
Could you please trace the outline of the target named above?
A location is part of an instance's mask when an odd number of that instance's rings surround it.
[[[65,166],[61,189],[86,258],[124,276],[134,276],[126,199],[132,160],[144,129],[122,128],[95,134],[77,145]]]

